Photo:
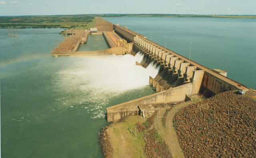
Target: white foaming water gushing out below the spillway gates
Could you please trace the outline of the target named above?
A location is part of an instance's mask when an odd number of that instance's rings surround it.
[[[61,104],[69,107],[86,104],[88,113],[93,114],[91,118],[104,118],[110,97],[143,88],[149,84],[149,76],[158,73],[152,65],[146,69],[136,66],[136,61],[142,58],[140,54],[75,58],[69,68],[57,73],[60,90],[75,95],[62,98]]]

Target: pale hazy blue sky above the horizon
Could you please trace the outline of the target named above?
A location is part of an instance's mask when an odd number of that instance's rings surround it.
[[[0,0],[0,16],[70,14],[256,15],[256,0]]]

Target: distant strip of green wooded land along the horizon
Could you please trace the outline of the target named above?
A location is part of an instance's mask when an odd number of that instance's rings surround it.
[[[256,18],[256,15],[194,15],[194,14],[81,14],[49,16],[0,16],[0,28],[91,28],[94,17],[157,16],[190,18]]]

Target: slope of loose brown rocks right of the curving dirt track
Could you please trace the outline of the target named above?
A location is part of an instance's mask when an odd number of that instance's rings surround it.
[[[174,117],[186,158],[255,158],[256,101],[224,92],[187,106]]]

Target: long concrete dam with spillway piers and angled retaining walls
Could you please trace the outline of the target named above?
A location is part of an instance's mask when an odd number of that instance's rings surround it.
[[[107,50],[52,53],[54,56],[111,54],[132,54],[135,56],[137,53],[140,53],[144,58],[141,62],[137,62],[138,65],[146,68],[153,62],[156,67],[160,67],[155,78],[149,77],[149,83],[152,84],[153,88],[156,88],[157,93],[107,108],[108,122],[116,121],[129,115],[150,114],[154,112],[152,104],[183,102],[188,100],[190,96],[198,93],[210,97],[228,90],[240,90],[242,93],[246,92],[251,96],[256,96],[254,90],[221,75],[218,71],[210,70],[159,44],[147,40],[145,36],[127,28],[115,24],[112,24],[112,26],[115,32],[113,34],[117,34],[120,38],[126,40],[128,44],[123,43],[122,46],[114,46],[113,43],[115,42],[110,37],[111,35],[108,34],[109,37],[106,37],[106,39],[108,38],[109,40],[106,41],[111,48]],[[80,42],[78,41],[78,43]]]

